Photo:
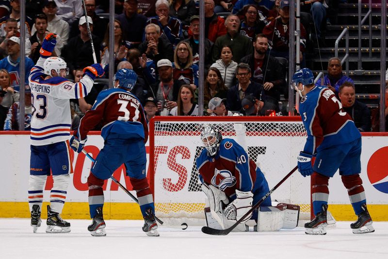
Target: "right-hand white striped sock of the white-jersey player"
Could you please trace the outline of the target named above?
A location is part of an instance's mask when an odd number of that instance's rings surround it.
[[[52,211],[61,214],[65,205],[70,174],[53,175],[52,179],[54,183],[50,192],[50,207]]]

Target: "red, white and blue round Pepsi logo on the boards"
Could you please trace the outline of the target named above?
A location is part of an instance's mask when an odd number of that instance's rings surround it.
[[[387,157],[388,147],[380,148],[371,155],[367,165],[367,174],[372,186],[384,193],[388,193]]]

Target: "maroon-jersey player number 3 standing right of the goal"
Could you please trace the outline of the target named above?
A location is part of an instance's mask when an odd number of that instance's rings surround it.
[[[353,233],[373,232],[372,218],[359,176],[361,134],[355,123],[343,111],[341,102],[332,90],[314,85],[314,75],[310,69],[298,70],[292,76],[291,88],[301,97],[299,113],[307,131],[305,148],[298,155],[298,170],[305,177],[311,175],[315,218],[305,224],[306,234],[326,234],[329,178],[338,169],[358,216],[357,221],[350,224]]]

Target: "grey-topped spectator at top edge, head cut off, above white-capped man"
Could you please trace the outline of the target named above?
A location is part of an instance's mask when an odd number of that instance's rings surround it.
[[[64,21],[71,24],[77,18],[80,18],[84,15],[83,7],[80,0],[54,0],[58,12],[57,15],[61,17]]]

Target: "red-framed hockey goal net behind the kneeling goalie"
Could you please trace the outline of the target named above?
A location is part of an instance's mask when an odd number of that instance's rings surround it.
[[[243,136],[236,123],[244,124]],[[248,155],[273,188],[296,165],[306,130],[300,117],[155,117],[150,121],[150,186],[156,216],[169,223],[203,224],[206,195],[201,191],[195,160],[203,150],[201,129],[210,124],[223,138],[245,141]],[[239,135],[239,136],[237,136]],[[310,218],[310,182],[293,173],[271,195],[272,202],[301,206]]]

